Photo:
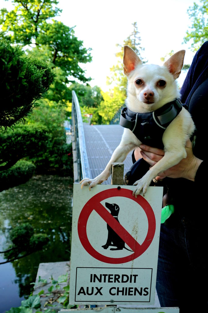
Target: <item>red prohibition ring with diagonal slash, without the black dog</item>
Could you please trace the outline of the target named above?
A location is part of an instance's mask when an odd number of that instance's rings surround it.
[[[115,220],[115,218],[100,203],[101,201],[111,197],[125,197],[132,199],[143,208],[148,218],[148,233],[146,238],[144,239],[144,242],[141,245],[138,244],[138,242],[123,228],[122,225],[120,225]],[[95,210],[102,218],[104,218],[109,226],[114,229],[114,231],[119,232],[119,236],[124,240],[126,244],[128,244],[128,246],[134,251],[134,253],[122,258],[111,258],[100,254],[92,247],[92,245],[89,243],[86,229],[88,218],[93,210]],[[115,225],[115,222],[117,223],[117,225]],[[126,263],[138,258],[148,249],[148,247],[152,243],[155,229],[155,215],[148,201],[142,196],[138,196],[137,198],[133,197],[132,190],[125,188],[121,188],[119,190],[117,188],[107,189],[94,195],[94,197],[89,199],[89,201],[82,208],[77,226],[79,239],[84,249],[95,259],[109,264]]]

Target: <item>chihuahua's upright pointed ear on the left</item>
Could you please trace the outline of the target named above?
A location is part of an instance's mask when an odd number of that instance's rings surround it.
[[[142,61],[129,46],[124,46],[123,52],[123,71],[128,76],[138,64],[142,64]]]

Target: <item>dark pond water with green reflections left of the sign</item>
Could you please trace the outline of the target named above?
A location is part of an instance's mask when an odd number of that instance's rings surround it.
[[[10,229],[22,223],[49,238],[41,251],[0,265],[0,313],[20,306],[30,294],[39,263],[70,259],[72,196],[73,179],[55,175],[33,176],[26,184],[0,192],[0,251],[8,249]]]

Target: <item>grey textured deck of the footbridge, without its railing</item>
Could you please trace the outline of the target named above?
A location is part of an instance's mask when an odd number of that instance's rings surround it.
[[[112,153],[119,145],[123,127],[120,125],[83,124],[83,128],[91,178],[94,178],[104,170]],[[123,163],[125,174],[132,166],[131,152]],[[111,184],[111,177],[104,184]]]

